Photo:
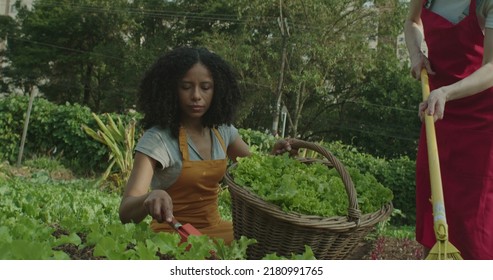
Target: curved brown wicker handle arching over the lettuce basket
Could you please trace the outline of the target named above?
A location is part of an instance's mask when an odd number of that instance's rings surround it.
[[[293,149],[306,148],[323,155],[329,160],[329,162],[333,165],[337,172],[339,172],[339,175],[341,176],[342,182],[344,183],[344,187],[346,189],[346,194],[348,195],[348,218],[350,221],[356,222],[356,224],[359,225],[361,211],[359,210],[358,206],[356,189],[354,187],[353,180],[351,180],[351,176],[349,175],[344,165],[342,165],[342,163],[331,152],[329,152],[327,149],[319,144],[294,138],[291,138],[288,141]]]

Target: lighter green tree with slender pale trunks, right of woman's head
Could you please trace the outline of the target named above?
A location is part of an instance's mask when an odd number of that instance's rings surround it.
[[[290,134],[309,135],[306,120],[350,99],[361,81],[374,11],[352,0],[235,2],[238,20],[229,24],[238,32],[218,28],[203,37],[239,69],[250,112],[244,124],[277,131],[285,105]]]

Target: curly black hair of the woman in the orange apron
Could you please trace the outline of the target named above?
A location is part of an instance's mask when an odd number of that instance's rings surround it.
[[[217,127],[233,123],[242,99],[233,69],[206,48],[179,47],[158,58],[140,82],[137,108],[144,114],[141,121],[144,129],[153,126],[170,128],[173,136],[178,137],[178,86],[197,63],[209,69],[214,81],[214,95],[202,124],[204,127]]]

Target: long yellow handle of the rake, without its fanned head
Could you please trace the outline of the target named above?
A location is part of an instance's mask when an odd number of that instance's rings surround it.
[[[421,70],[421,87],[423,101],[430,96],[428,73]],[[428,164],[430,168],[431,200],[433,204],[433,223],[437,240],[448,240],[447,219],[445,217],[445,202],[443,199],[442,177],[440,174],[440,161],[435,134],[435,121],[433,116],[424,114],[426,128],[426,144],[428,146]]]

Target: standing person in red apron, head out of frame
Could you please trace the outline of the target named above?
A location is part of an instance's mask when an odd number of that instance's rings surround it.
[[[431,94],[419,112],[436,120],[449,241],[464,259],[493,259],[493,3],[459,2],[411,1],[406,44],[412,75],[419,79],[422,68],[429,73]],[[456,20],[451,20],[454,11],[445,7],[452,4],[460,7]],[[428,56],[421,50],[423,36]],[[416,239],[428,250],[436,243],[430,198],[422,127],[416,160]]]

